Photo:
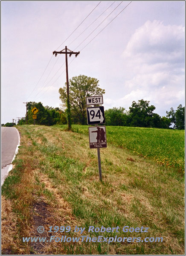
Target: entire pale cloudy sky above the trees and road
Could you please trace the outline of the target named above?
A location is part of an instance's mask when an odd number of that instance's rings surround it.
[[[23,102],[61,108],[65,55],[52,52],[65,46],[80,51],[69,79],[98,79],[105,110],[185,106],[184,1],[1,1],[1,123],[25,116]]]

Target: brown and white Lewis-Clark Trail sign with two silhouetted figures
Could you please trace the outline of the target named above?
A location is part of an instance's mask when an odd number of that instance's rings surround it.
[[[90,148],[106,148],[107,138],[105,126],[93,126],[88,128]]]

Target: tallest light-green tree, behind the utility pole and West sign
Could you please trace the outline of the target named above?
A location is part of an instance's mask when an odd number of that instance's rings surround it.
[[[105,93],[105,90],[99,88],[98,83],[98,79],[84,75],[74,76],[72,79],[70,79],[70,108],[71,117],[74,123],[80,123],[82,125],[87,123],[85,97],[99,96]],[[59,98],[62,101],[62,106],[65,108],[67,102],[67,87],[64,86],[63,88],[60,88],[59,94]]]

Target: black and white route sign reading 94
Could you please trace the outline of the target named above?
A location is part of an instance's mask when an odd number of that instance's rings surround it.
[[[105,124],[104,107],[87,108],[87,123],[88,125]]]

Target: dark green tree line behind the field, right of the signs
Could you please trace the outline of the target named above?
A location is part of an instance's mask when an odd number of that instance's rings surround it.
[[[138,102],[133,101],[129,111],[125,108],[112,108],[105,111],[105,124],[118,126],[133,126],[146,128],[173,128],[185,129],[185,107],[179,105],[177,110],[166,111],[167,116],[161,117],[154,113],[155,107],[149,105],[149,101],[143,99]]]

